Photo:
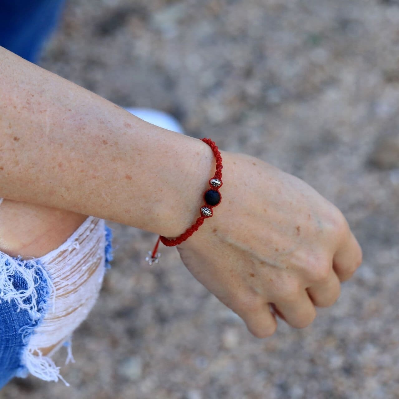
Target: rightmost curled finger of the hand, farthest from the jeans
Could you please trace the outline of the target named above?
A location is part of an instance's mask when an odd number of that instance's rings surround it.
[[[352,231],[349,231],[348,239],[336,251],[333,258],[333,269],[340,281],[346,281],[352,277],[361,265],[362,256],[358,240]]]

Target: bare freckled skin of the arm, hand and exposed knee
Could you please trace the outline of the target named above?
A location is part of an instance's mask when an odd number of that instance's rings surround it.
[[[0,250],[45,255],[87,215],[168,238],[195,223],[215,172],[207,144],[1,47],[0,71]],[[276,330],[269,303],[304,328],[317,306],[336,302],[361,248],[342,213],[302,180],[246,154],[221,156],[222,201],[177,246],[180,257],[254,336]]]

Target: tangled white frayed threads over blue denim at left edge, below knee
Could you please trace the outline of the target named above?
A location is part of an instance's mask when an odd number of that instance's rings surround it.
[[[28,267],[26,267],[27,264]],[[38,293],[36,291],[36,286],[40,284],[38,271],[47,280],[49,296],[53,297],[53,310],[55,310],[55,287],[41,263],[35,259],[19,259],[17,261],[0,251],[0,302],[6,300],[10,303],[14,299],[18,305],[18,312],[26,310],[32,322],[41,317],[41,313],[38,311]],[[13,282],[17,278],[25,282],[26,289],[16,290],[14,288]]]

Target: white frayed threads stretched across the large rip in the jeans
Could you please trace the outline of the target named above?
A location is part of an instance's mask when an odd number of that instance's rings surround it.
[[[39,258],[54,282],[57,311],[46,312],[24,353],[26,367],[36,377],[46,381],[61,379],[65,383],[59,367],[50,358],[63,343],[67,343],[68,350],[65,364],[75,362],[72,332],[94,306],[105,273],[104,231],[104,220],[90,216],[59,248]],[[52,346],[47,356],[41,354],[40,348]]]

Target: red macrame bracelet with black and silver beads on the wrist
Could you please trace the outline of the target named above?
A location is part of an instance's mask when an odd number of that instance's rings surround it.
[[[210,138],[201,138],[201,140],[212,148],[213,154],[215,154],[216,158],[215,176],[209,179],[209,186],[211,186],[211,188],[205,191],[205,193],[203,194],[205,205],[203,205],[200,209],[201,216],[197,219],[196,223],[194,223],[182,235],[180,235],[175,239],[170,240],[164,237],[163,235],[160,235],[152,252],[148,251],[149,256],[146,257],[146,261],[148,262],[149,265],[152,265],[153,262],[158,263],[158,259],[161,256],[160,253],[157,253],[159,241],[162,241],[162,243],[167,247],[174,247],[175,245],[179,245],[183,241],[186,241],[186,239],[188,239],[188,237],[190,237],[194,233],[194,231],[198,230],[199,226],[201,226],[204,219],[207,219],[208,217],[211,217],[213,215],[212,208],[219,205],[219,203],[222,200],[222,197],[219,193],[219,188],[223,184],[221,180],[222,179],[221,170],[223,169],[223,166],[222,166],[222,157],[220,156],[220,151],[217,148],[215,142],[213,142]]]

